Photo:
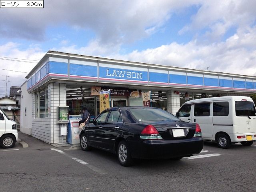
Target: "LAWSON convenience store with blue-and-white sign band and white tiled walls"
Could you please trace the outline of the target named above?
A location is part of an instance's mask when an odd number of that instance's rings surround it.
[[[66,124],[57,122],[57,107],[68,106],[69,116],[78,117],[86,106],[97,116],[99,90],[110,90],[110,106],[143,106],[141,93],[150,92],[151,106],[172,114],[186,100],[256,93],[254,76],[169,65],[48,51],[22,85],[21,116],[31,121],[23,128],[45,142],[65,142],[60,129]]]

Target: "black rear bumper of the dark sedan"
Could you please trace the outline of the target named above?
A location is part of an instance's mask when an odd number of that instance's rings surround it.
[[[140,140],[130,145],[132,158],[152,159],[198,154],[204,142],[201,137],[197,137],[184,140]]]

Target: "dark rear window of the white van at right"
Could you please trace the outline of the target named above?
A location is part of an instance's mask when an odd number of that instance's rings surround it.
[[[235,101],[236,116],[256,116],[254,103],[251,101]]]

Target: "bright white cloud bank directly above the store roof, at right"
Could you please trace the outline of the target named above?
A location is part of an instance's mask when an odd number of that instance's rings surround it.
[[[187,44],[173,42],[158,48],[133,51],[130,54],[113,54],[108,57],[137,62],[179,66],[217,72],[256,76],[256,27],[248,33],[238,31],[224,42],[208,45],[196,40]]]

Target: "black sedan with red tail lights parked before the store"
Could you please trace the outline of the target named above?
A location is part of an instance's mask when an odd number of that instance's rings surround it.
[[[104,110],[80,132],[80,146],[117,154],[122,166],[134,158],[180,160],[203,148],[201,129],[159,108],[115,107]]]

